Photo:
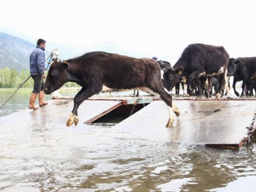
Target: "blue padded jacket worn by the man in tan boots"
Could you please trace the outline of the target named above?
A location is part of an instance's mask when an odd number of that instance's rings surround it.
[[[36,75],[36,74],[44,74],[44,59],[46,58],[46,55],[44,54],[44,48],[41,48],[39,46],[36,46],[36,49],[32,51],[29,58],[30,63],[30,74]]]

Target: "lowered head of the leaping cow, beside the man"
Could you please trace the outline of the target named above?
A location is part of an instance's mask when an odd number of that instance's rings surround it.
[[[48,70],[46,83],[44,84],[44,93],[51,94],[53,91],[61,88],[70,79],[67,69],[69,65],[66,61],[57,61],[51,64]]]

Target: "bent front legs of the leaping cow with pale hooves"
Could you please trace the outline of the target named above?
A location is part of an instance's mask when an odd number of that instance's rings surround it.
[[[75,123],[75,126],[78,124],[78,107],[79,105],[84,102],[85,99],[88,99],[89,97],[92,97],[92,95],[98,93],[99,91],[102,90],[102,84],[100,81],[97,80],[92,80],[91,84],[89,84],[88,87],[82,87],[82,89],[78,92],[77,95],[75,95],[74,98],[74,108],[72,112],[70,113],[70,116],[67,120],[67,126],[71,126],[73,123]]]

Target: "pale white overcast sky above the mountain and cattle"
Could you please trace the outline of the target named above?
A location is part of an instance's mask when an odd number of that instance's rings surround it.
[[[0,5],[0,24],[47,42],[88,48],[111,42],[159,59],[178,59],[193,43],[222,45],[234,58],[256,56],[255,0],[2,0]]]

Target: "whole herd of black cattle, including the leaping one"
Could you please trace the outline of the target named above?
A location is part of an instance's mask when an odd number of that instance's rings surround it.
[[[165,64],[165,65],[162,65]],[[223,88],[228,90],[227,77],[234,76],[233,88],[237,96],[236,82],[243,80],[245,88],[252,94],[256,80],[255,58],[230,58],[224,47],[213,45],[191,44],[185,48],[177,63],[171,67],[168,62],[157,62],[148,58],[109,54],[106,52],[89,52],[67,61],[54,61],[49,69],[44,85],[44,93],[51,94],[68,81],[81,86],[74,97],[74,108],[70,113],[67,126],[78,123],[78,107],[81,103],[102,90],[103,85],[112,89],[133,89],[159,95],[167,104],[171,127],[174,115],[179,116],[178,108],[172,103],[169,91],[179,83],[187,84],[189,95],[210,96],[212,80],[217,82],[216,98],[223,96]],[[163,79],[161,76],[163,73]],[[208,86],[206,87],[206,81]]]

